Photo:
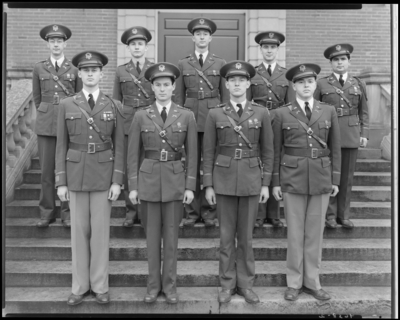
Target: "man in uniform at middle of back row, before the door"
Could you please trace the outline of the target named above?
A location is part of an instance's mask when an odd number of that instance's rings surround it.
[[[195,199],[191,206],[186,205],[186,226],[196,222],[204,222],[206,226],[214,226],[216,218],[215,206],[207,204],[204,190],[200,189],[200,163],[204,136],[204,125],[208,110],[229,99],[220,69],[226,63],[217,55],[209,52],[212,34],[217,30],[216,24],[206,18],[196,18],[189,22],[188,30],[193,34],[195,51],[182,60],[178,66],[181,77],[176,81],[175,102],[194,112],[197,121],[197,186]]]

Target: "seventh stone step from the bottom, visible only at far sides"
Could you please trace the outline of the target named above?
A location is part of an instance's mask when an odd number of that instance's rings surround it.
[[[40,184],[40,170],[29,170],[24,173],[23,182],[26,184]],[[390,172],[355,172],[354,186],[390,186]]]

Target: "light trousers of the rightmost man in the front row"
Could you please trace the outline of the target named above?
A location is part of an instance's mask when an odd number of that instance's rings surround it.
[[[287,286],[321,289],[319,269],[322,259],[324,214],[330,194],[307,195],[283,192],[287,223]]]

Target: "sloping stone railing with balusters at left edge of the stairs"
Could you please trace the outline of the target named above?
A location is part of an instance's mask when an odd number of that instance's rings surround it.
[[[6,202],[9,203],[14,199],[14,188],[22,183],[23,172],[37,155],[32,80],[13,83],[7,92],[6,108]]]

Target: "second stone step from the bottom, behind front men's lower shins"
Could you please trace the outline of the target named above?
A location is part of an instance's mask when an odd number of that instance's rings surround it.
[[[217,287],[218,261],[179,261],[177,285]],[[286,261],[256,261],[254,286],[286,286]],[[110,261],[110,287],[145,287],[147,261]],[[70,287],[70,261],[6,261],[7,287]],[[322,261],[322,286],[390,286],[390,261]]]

